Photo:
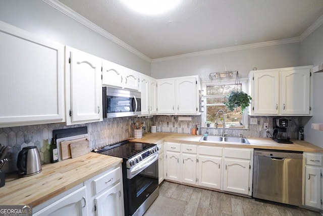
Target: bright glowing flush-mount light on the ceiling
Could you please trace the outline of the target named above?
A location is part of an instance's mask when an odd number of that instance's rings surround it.
[[[173,10],[182,0],[122,0],[131,10],[142,14],[157,15]]]

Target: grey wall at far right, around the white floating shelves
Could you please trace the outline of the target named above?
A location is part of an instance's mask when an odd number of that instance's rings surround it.
[[[300,53],[303,65],[323,64],[323,25],[301,42]],[[303,118],[304,139],[323,148],[323,131],[311,129],[312,123],[323,123],[323,73],[313,75],[313,117]]]

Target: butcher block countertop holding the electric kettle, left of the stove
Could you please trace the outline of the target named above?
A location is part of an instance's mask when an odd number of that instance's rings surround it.
[[[6,178],[6,185],[0,188],[0,205],[34,207],[121,162],[122,158],[90,152],[55,164],[42,165],[42,171],[36,175]]]

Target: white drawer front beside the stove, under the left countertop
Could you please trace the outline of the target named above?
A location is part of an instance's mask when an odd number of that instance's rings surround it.
[[[120,166],[111,170],[109,173],[93,180],[94,192],[98,194],[107,187],[110,187],[122,177]]]

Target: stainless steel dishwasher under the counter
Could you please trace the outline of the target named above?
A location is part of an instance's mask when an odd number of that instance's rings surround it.
[[[302,153],[255,149],[252,196],[300,206],[302,204]]]

